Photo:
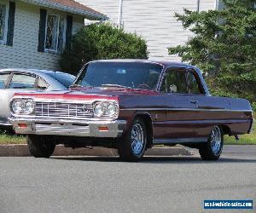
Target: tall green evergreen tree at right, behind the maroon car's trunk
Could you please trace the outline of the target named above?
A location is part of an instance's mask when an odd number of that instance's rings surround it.
[[[208,72],[213,95],[244,97],[256,109],[255,0],[223,0],[224,9],[176,14],[195,34],[188,43],[169,48],[170,55]]]

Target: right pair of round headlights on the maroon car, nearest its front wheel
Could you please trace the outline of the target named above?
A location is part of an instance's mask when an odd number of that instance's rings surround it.
[[[119,106],[116,102],[96,102],[93,112],[95,117],[117,118]]]

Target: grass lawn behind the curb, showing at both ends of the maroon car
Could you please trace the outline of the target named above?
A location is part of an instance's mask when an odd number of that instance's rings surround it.
[[[1,144],[24,144],[26,138],[20,135],[9,135],[4,131],[0,132],[0,145]],[[256,121],[253,122],[253,132],[247,135],[241,135],[240,140],[236,141],[235,137],[224,136],[224,144],[252,144],[256,145]]]

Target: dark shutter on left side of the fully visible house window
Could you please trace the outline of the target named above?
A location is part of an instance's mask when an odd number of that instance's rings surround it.
[[[47,15],[47,11],[45,9],[40,9],[40,22],[39,22],[39,32],[38,32],[38,52],[44,52],[46,15]]]

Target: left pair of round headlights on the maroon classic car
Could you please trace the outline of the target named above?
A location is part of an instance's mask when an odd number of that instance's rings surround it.
[[[12,101],[11,109],[16,114],[31,114],[34,112],[35,103],[31,99],[17,99]]]

